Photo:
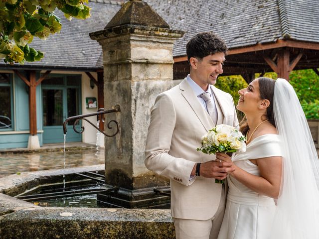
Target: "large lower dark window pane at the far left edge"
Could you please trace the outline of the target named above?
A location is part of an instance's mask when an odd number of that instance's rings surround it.
[[[0,128],[11,128],[10,87],[0,87]]]

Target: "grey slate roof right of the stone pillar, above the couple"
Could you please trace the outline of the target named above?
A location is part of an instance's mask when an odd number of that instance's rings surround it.
[[[318,0],[146,0],[172,29],[186,31],[173,55],[186,55],[197,32],[213,31],[229,48],[290,38],[319,42]]]

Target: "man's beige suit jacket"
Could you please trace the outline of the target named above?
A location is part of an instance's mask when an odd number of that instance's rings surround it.
[[[210,86],[218,101],[217,124],[238,125],[230,94]],[[208,220],[219,205],[222,185],[213,178],[196,177],[189,181],[195,163],[215,160],[214,155],[196,150],[201,137],[214,127],[193,90],[184,79],[161,93],[151,111],[145,165],[170,179],[171,215],[174,218]]]

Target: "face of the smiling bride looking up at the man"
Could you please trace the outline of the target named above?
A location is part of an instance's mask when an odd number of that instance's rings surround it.
[[[239,90],[238,93],[240,97],[236,106],[237,110],[245,114],[258,110],[261,102],[258,79],[253,80],[247,88]]]

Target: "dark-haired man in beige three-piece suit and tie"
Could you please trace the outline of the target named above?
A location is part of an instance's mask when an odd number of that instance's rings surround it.
[[[145,165],[170,179],[177,239],[216,239],[223,219],[225,190],[214,181],[234,169],[196,148],[215,125],[238,125],[231,95],[213,86],[223,73],[226,52],[213,33],[193,36],[186,46],[190,74],[161,93],[152,108]]]

